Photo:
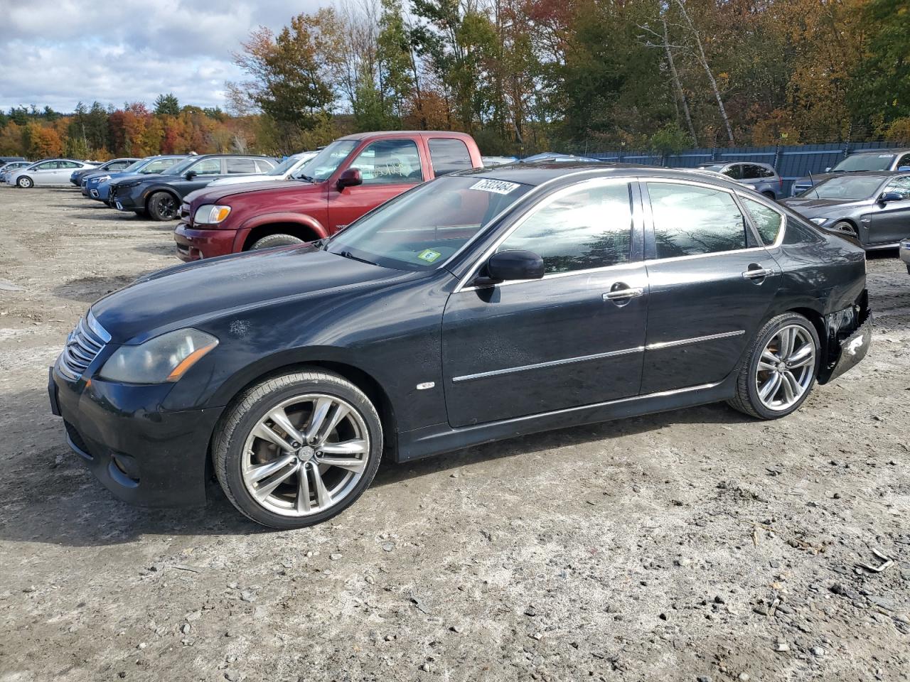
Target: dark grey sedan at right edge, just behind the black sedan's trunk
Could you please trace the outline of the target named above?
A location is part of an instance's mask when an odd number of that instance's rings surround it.
[[[894,248],[910,236],[910,173],[838,175],[782,203],[817,226],[854,236],[865,249]]]

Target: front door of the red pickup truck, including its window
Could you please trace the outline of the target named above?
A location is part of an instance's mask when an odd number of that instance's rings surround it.
[[[329,185],[329,232],[348,226],[367,211],[423,182],[417,143],[411,139],[382,139],[365,146],[348,165],[357,168],[363,184],[339,190]]]

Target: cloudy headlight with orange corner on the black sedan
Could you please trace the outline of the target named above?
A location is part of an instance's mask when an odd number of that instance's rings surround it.
[[[138,346],[120,346],[107,358],[98,376],[125,384],[177,381],[217,345],[215,336],[198,329],[177,329]]]

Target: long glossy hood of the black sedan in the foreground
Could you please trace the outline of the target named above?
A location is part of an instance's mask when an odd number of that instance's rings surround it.
[[[248,306],[376,286],[414,276],[321,250],[286,246],[168,267],[96,301],[92,313],[113,343],[141,343]]]

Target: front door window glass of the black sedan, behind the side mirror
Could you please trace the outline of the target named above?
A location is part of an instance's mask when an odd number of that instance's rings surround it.
[[[533,251],[550,275],[626,263],[631,246],[629,185],[612,183],[545,199],[497,250]]]

